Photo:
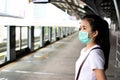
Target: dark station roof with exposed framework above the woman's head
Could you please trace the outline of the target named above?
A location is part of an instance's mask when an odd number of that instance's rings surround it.
[[[66,11],[77,19],[85,14],[97,14],[102,17],[116,16],[113,0],[50,0],[56,7]]]

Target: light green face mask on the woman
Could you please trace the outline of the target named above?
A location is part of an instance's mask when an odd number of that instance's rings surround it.
[[[82,43],[88,44],[91,42],[91,39],[88,37],[88,32],[79,31],[79,40]]]

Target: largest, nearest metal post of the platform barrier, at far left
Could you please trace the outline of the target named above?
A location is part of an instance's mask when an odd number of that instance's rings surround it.
[[[16,59],[15,37],[15,26],[7,26],[7,61],[13,61]]]

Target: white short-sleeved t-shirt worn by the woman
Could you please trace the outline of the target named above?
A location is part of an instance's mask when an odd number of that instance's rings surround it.
[[[86,58],[89,52],[90,54],[88,55],[86,61],[82,66],[78,80],[96,80],[96,76],[93,69],[104,69],[105,59],[103,51],[101,49],[93,49],[95,47],[99,47],[99,45],[93,46],[86,52],[84,52],[84,48],[81,50],[80,57],[76,61],[75,65],[75,77],[77,76],[79,67],[82,64],[83,60]]]

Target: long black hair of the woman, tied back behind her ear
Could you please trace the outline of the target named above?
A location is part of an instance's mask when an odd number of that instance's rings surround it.
[[[109,39],[110,35],[108,23],[98,15],[86,15],[82,18],[82,20],[83,19],[86,19],[89,22],[93,32],[96,30],[98,31],[98,35],[95,38],[95,42],[96,44],[100,45],[104,52],[105,57],[104,69],[106,70],[108,68],[110,53],[110,39]]]

